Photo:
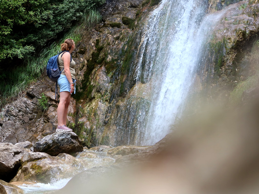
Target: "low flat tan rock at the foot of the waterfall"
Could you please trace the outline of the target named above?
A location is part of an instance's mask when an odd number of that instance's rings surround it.
[[[117,146],[114,148],[111,148],[107,151],[107,155],[114,156],[114,155],[129,155],[138,153],[144,150],[147,150],[148,148],[151,148],[152,146]]]

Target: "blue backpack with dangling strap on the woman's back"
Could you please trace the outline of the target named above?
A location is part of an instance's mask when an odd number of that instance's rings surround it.
[[[56,89],[55,89],[55,99],[56,99],[56,94],[57,94],[57,79],[59,79],[60,75],[61,75],[61,72],[64,70],[64,68],[60,71],[59,70],[59,62],[58,62],[58,58],[59,58],[59,55],[61,53],[65,53],[65,52],[68,52],[67,50],[64,50],[64,51],[61,51],[59,54],[51,57],[49,60],[48,60],[48,64],[47,64],[47,75],[49,77],[49,79],[51,81],[54,81],[56,82]],[[62,54],[62,55],[63,55]],[[61,55],[61,56],[62,56]],[[72,61],[72,57],[70,55],[70,62]],[[58,100],[58,98],[57,98]]]

